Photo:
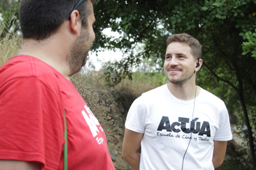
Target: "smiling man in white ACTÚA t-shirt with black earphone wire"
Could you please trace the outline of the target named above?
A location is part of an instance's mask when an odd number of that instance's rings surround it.
[[[168,37],[164,71],[170,82],[138,97],[125,122],[122,155],[133,169],[221,166],[232,133],[223,101],[195,84],[201,54],[192,36]]]

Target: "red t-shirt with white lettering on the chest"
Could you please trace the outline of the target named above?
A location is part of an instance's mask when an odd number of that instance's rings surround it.
[[[0,67],[0,159],[63,169],[64,109],[68,169],[115,169],[106,135],[76,87],[28,55]]]

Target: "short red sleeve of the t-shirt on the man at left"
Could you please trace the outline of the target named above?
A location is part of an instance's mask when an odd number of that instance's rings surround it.
[[[58,95],[33,76],[1,84],[0,159],[36,161],[42,163],[42,169],[58,168],[65,142]]]

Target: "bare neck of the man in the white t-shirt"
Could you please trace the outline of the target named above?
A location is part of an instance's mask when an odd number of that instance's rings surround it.
[[[195,97],[200,93],[200,88],[196,87],[195,83],[186,83],[182,86],[179,86],[169,82],[167,87],[173,96],[183,101],[195,99]]]

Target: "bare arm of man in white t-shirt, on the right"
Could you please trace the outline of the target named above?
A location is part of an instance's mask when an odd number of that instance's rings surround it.
[[[227,150],[227,141],[213,141],[214,149],[212,156],[212,164],[214,169],[220,167],[225,158],[226,150]]]

